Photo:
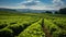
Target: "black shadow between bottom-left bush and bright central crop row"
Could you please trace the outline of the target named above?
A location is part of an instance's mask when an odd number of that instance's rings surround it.
[[[30,26],[30,24],[23,24],[24,26],[20,25],[20,26],[10,26],[9,28],[13,30],[13,35],[18,36],[21,32],[23,32],[28,26]]]

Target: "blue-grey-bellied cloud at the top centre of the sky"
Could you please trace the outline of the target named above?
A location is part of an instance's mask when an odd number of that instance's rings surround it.
[[[28,1],[22,1],[18,4],[25,5],[25,7],[32,7],[32,5],[37,5],[40,3],[42,3],[42,2],[38,0],[28,0]]]

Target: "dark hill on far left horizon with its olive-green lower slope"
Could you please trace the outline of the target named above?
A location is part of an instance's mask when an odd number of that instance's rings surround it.
[[[0,15],[12,15],[12,14],[15,15],[15,14],[21,14],[21,13],[14,9],[0,8]]]

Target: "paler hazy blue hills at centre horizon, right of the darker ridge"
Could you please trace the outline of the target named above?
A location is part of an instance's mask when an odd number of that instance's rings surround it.
[[[42,13],[42,12],[46,12],[46,11],[51,11],[51,12],[55,12],[56,10],[32,10],[32,9],[16,9],[16,11],[20,12],[29,12],[29,13]]]

